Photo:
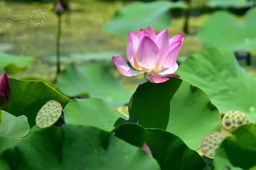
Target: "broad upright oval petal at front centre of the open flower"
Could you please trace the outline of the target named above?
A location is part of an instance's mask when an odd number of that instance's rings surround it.
[[[149,37],[143,37],[137,48],[136,59],[140,68],[146,72],[153,69],[159,58],[159,48]]]

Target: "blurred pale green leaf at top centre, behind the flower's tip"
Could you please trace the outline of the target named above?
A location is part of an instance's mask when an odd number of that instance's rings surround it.
[[[171,8],[186,8],[181,2],[154,1],[150,3],[133,2],[119,8],[115,17],[103,25],[103,31],[126,36],[129,31],[139,31],[149,25],[156,30],[164,30],[171,24]]]

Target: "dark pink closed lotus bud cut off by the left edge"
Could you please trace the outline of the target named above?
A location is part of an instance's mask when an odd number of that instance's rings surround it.
[[[0,77],[0,107],[6,105],[9,101],[10,83],[6,73]]]

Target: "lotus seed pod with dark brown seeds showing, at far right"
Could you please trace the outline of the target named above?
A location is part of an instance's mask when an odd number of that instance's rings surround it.
[[[231,133],[237,129],[237,127],[250,123],[248,116],[240,110],[230,110],[222,118],[221,125]]]

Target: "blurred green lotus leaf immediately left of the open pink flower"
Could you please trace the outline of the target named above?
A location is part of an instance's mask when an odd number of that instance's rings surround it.
[[[100,98],[110,105],[124,105],[129,102],[133,91],[122,88],[104,64],[78,67],[74,63],[67,65],[57,79],[56,88],[66,96],[90,96]]]

